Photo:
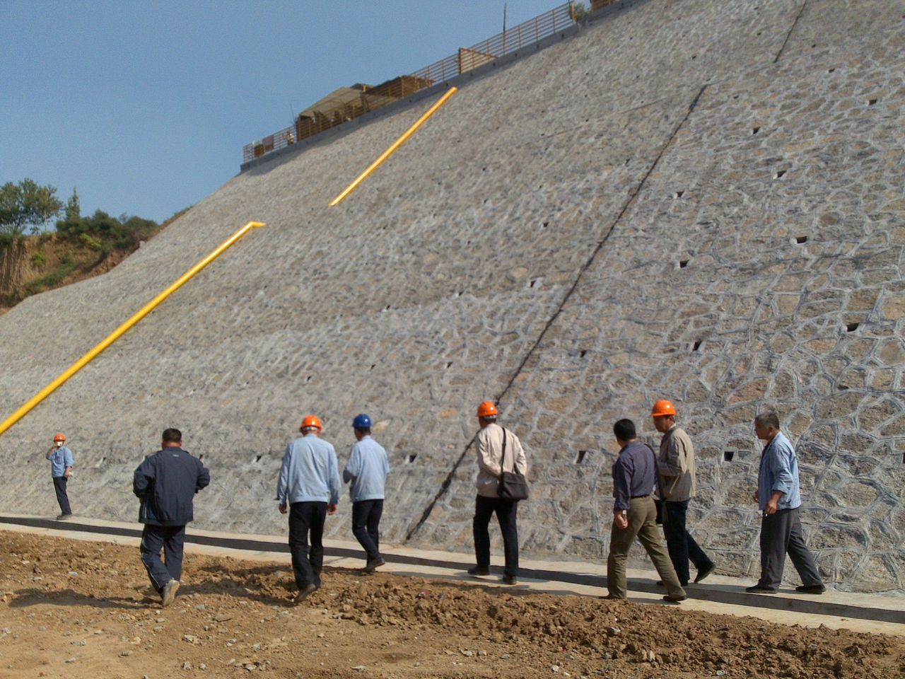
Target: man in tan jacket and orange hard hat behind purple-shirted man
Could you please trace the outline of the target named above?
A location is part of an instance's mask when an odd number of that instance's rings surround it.
[[[707,578],[715,566],[685,528],[688,505],[695,494],[694,445],[685,430],[676,425],[676,408],[665,398],[653,404],[653,426],[662,434],[657,473],[663,501],[663,534],[672,566],[682,587],[688,584],[688,562],[698,569],[695,582]]]

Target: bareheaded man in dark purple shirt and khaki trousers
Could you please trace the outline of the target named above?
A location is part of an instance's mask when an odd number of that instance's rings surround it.
[[[638,442],[632,420],[619,420],[613,426],[619,457],[613,464],[613,529],[610,553],[606,558],[608,599],[626,598],[625,561],[635,538],[653,561],[668,594],[665,601],[688,598],[672,568],[672,561],[657,530],[657,508],[653,503],[656,483],[656,458],[653,450]]]

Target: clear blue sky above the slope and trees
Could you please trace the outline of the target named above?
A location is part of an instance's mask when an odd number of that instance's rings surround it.
[[[506,0],[513,26],[562,2]],[[162,221],[354,82],[500,33],[503,0],[0,0],[0,184]]]

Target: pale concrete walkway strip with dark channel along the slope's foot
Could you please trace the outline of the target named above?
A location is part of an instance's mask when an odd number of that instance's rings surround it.
[[[128,541],[138,544],[141,526],[99,519],[73,518],[68,521],[23,514],[0,515],[0,526],[11,530],[45,532],[81,540]],[[111,540],[112,539],[112,540]],[[357,542],[324,540],[326,562],[333,567],[359,569],[364,553]],[[186,530],[186,550],[233,556],[237,559],[288,560],[285,537],[243,535],[218,531]],[[385,546],[386,570],[398,576],[466,579],[482,585],[498,585],[501,567],[491,567],[490,579],[474,579],[465,574],[473,565],[469,554],[416,550]],[[555,567],[555,568],[554,568]],[[629,569],[630,600],[660,602],[664,590],[658,588],[654,571]],[[828,589],[824,595],[798,594],[794,589],[776,595],[752,595],[745,587],[754,579],[711,576],[706,583],[686,588],[689,599],[682,606],[713,613],[761,617],[783,624],[848,627],[880,634],[905,636],[905,594],[859,594]],[[605,565],[588,562],[548,562],[521,559],[518,589],[551,594],[599,596],[605,594]]]

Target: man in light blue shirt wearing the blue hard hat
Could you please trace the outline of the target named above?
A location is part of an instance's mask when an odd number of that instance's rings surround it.
[[[390,471],[386,450],[371,438],[371,418],[362,413],[352,420],[357,444],[352,446],[342,473],[350,483],[352,534],[367,553],[365,572],[373,573],[386,561],[380,556],[380,516],[384,512],[386,474]]]

